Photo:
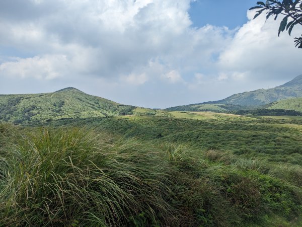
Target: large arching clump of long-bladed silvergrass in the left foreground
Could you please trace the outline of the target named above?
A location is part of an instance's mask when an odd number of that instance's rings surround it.
[[[169,165],[135,140],[80,129],[23,134],[0,156],[0,225],[177,223]]]

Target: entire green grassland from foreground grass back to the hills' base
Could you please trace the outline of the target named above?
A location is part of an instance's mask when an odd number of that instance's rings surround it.
[[[302,225],[302,117],[169,114],[1,124],[0,226]]]

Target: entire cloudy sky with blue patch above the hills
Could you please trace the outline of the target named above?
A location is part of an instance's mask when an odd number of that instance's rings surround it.
[[[0,94],[74,87],[167,108],[279,86],[302,74],[280,19],[254,0],[2,0]]]

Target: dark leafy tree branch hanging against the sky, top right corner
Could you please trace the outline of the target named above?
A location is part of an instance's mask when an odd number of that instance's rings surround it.
[[[283,0],[275,1],[275,0],[267,0],[264,2],[257,2],[258,6],[252,7],[250,10],[258,9],[255,14],[255,18],[257,18],[263,12],[266,13],[266,19],[271,16],[274,17],[274,20],[278,18],[278,16],[283,15],[278,36],[281,32],[288,31],[288,34],[291,34],[291,31],[295,25],[302,25],[302,0]],[[302,48],[302,35],[300,37],[294,38],[295,47]]]

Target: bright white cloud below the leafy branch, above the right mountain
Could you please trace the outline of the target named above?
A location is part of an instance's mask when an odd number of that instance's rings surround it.
[[[302,51],[293,43],[293,37],[299,36],[298,31],[293,31],[291,37],[286,31],[278,37],[282,18],[266,21],[263,14],[252,20],[254,14],[248,12],[248,23],[240,28],[232,43],[220,54],[221,71],[236,72],[235,78],[246,77],[247,71],[252,72],[249,74],[254,80],[274,80],[300,74]]]

